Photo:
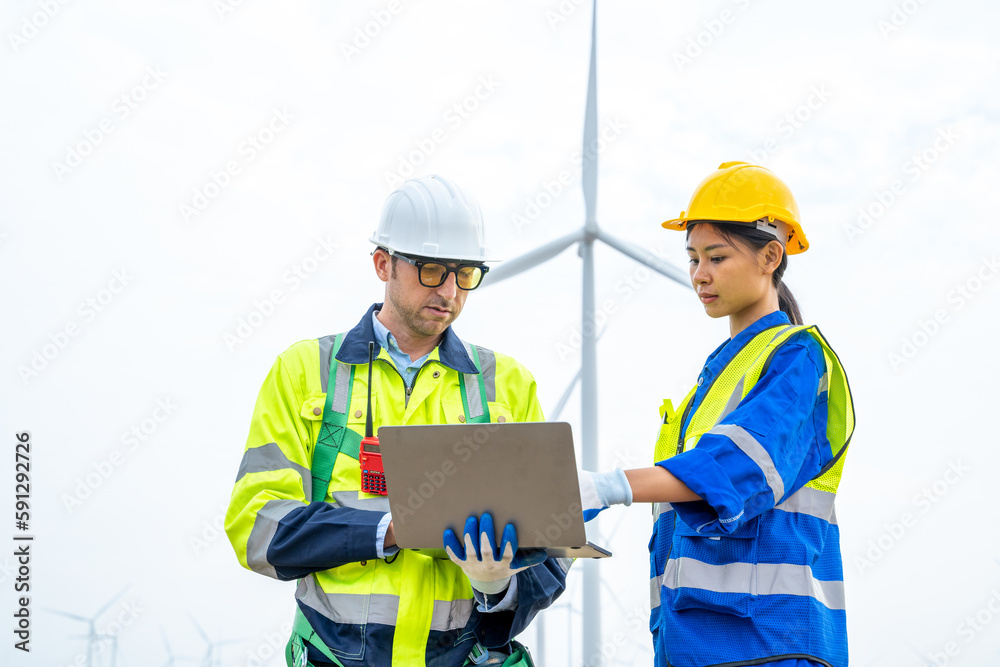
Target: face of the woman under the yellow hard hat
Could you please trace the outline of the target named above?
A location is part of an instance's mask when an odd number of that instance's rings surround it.
[[[781,261],[782,249],[777,241],[759,252],[734,242],[736,247],[715,225],[700,223],[691,227],[687,252],[691,285],[705,312],[709,317],[731,317],[730,329],[739,332],[777,310],[771,274]]]

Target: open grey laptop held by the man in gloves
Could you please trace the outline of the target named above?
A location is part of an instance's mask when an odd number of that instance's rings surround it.
[[[587,541],[573,432],[565,422],[383,426],[378,431],[396,544],[447,558],[441,535],[489,512],[519,547],[607,558]]]

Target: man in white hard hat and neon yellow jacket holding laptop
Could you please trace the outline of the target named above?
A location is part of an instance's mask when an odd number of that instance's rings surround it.
[[[376,429],[542,421],[535,381],[451,329],[489,270],[470,195],[438,176],[407,181],[371,241],[385,301],[346,334],[278,357],[257,398],[226,532],[244,567],[299,580],[289,665],[480,664],[494,659],[484,646],[505,647],[558,597],[566,565],[531,567],[538,558],[502,549],[456,548],[451,560],[400,551],[387,499],[362,490],[368,398]]]

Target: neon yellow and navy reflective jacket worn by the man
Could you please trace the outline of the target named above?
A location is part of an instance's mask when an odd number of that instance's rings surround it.
[[[342,335],[335,358],[335,336],[296,343],[278,357],[257,398],[226,532],[244,567],[299,580],[296,629],[312,631],[306,638],[324,649],[322,660],[348,666],[461,665],[476,645],[475,633],[486,633],[493,642],[500,637],[490,645],[502,645],[520,632],[561,592],[565,571],[555,559],[539,565],[544,583],[519,586],[512,620],[509,613],[480,614],[467,577],[450,560],[405,549],[378,558],[376,529],[389,505],[386,497],[361,489],[357,444],[364,435],[368,396],[376,429],[461,423],[483,407],[494,423],[544,417],[535,381],[523,366],[463,343],[450,328],[409,388],[384,349],[368,387],[371,316],[379,305]],[[331,364],[337,366],[333,373]],[[351,389],[349,403],[348,393],[339,391],[343,387],[332,396],[334,402],[345,401],[339,409],[348,433],[326,497],[316,502],[312,462],[331,377]],[[463,389],[470,395],[464,396]],[[536,577],[532,570],[518,577]]]

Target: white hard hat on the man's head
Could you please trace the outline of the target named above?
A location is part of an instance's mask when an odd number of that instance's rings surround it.
[[[404,255],[490,261],[479,203],[440,176],[414,178],[394,190],[371,242]]]

